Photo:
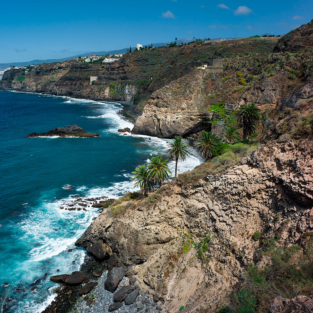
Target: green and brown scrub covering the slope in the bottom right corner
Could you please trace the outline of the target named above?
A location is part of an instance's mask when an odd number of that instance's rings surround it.
[[[288,248],[278,247],[274,238],[263,240],[260,251],[271,261],[262,268],[250,265],[229,305],[222,309],[230,309],[232,313],[268,312],[276,296],[291,299],[296,295],[311,295],[313,238],[304,236],[300,240],[299,245]],[[218,312],[228,312],[222,309]]]

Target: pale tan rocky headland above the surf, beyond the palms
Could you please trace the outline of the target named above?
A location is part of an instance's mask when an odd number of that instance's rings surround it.
[[[132,133],[173,138],[209,128],[211,114],[200,113],[198,107],[202,86],[203,72],[194,70],[153,93]]]

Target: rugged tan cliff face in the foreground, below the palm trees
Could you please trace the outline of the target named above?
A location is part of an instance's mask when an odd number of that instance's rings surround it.
[[[117,256],[170,312],[215,312],[248,264],[266,264],[256,231],[289,246],[313,230],[312,157],[312,139],[289,140],[217,174],[203,164],[118,214],[107,209],[76,244]]]

